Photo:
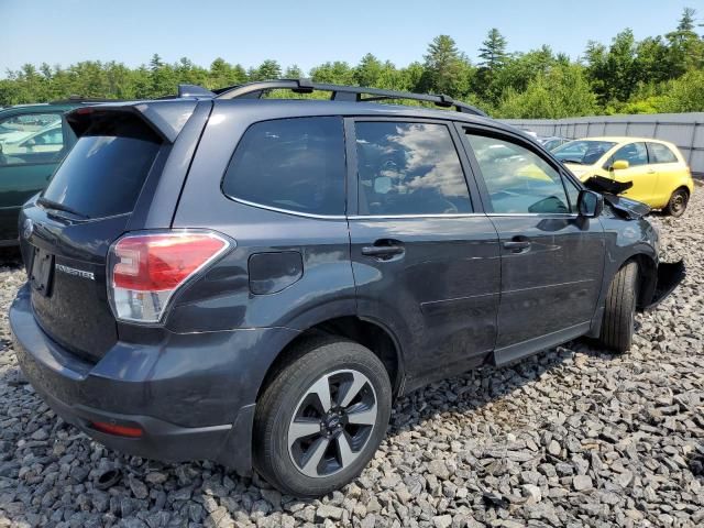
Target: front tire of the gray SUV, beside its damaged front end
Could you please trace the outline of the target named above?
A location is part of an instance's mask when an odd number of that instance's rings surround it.
[[[600,341],[609,349],[628,352],[634,339],[638,264],[627,263],[614,276],[606,294]]]

